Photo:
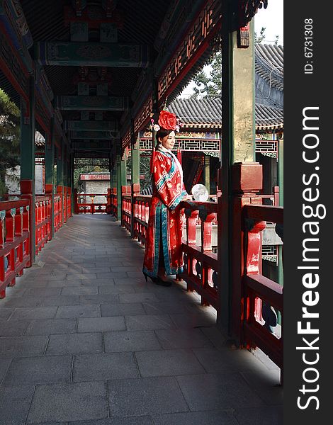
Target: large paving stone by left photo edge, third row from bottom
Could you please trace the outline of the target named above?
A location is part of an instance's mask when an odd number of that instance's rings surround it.
[[[2,382],[4,387],[18,387],[48,382],[69,382],[72,356],[13,358]]]

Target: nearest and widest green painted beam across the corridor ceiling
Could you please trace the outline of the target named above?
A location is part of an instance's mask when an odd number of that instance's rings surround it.
[[[149,46],[41,41],[35,45],[35,60],[41,65],[146,68],[149,65]]]

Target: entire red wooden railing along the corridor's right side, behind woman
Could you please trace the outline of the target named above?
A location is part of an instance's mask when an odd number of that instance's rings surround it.
[[[151,196],[137,194],[130,196],[125,190],[122,195],[121,223],[143,245],[150,198]],[[273,195],[259,196],[260,198],[271,198],[272,203],[278,203],[278,188]],[[219,203],[185,201],[179,207],[185,212],[186,239],[183,241],[184,273],[178,278],[185,280],[188,290],[196,290],[201,295],[202,305],[212,305],[219,310],[218,242],[213,242],[213,229],[217,229],[220,216]],[[246,267],[240,280],[242,299],[238,302],[239,305],[244,305],[244,311],[241,312],[238,336],[242,346],[259,346],[282,369],[282,325],[271,329],[270,324],[274,320],[269,316],[279,312],[283,318],[283,289],[261,274],[261,231],[266,227],[266,222],[283,225],[283,208],[269,205],[242,207],[242,258]],[[253,227],[248,227],[249,224]]]

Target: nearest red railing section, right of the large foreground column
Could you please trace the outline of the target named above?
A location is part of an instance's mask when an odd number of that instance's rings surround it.
[[[283,225],[283,208],[269,205],[243,207],[244,312],[241,339],[243,346],[259,346],[281,369],[283,368],[283,287],[261,274],[261,231],[266,222]],[[262,312],[257,311],[258,300]],[[273,310],[272,310],[273,309]],[[281,327],[271,329],[280,312]],[[264,319],[262,320],[261,317]]]

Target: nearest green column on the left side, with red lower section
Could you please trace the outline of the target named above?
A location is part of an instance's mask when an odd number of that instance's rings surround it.
[[[29,77],[29,102],[21,98],[21,195],[30,202],[30,262],[35,261],[35,81]]]

